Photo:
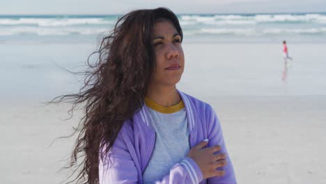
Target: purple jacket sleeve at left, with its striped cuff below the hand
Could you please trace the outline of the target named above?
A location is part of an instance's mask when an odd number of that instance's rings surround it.
[[[131,146],[131,147],[130,147]],[[128,149],[130,148],[130,149]],[[123,140],[121,133],[118,134],[114,146],[105,157],[100,159],[99,181],[100,184],[131,184],[141,183],[142,176],[140,168],[137,168],[132,155],[133,145]],[[135,158],[137,159],[137,158]],[[163,176],[155,184],[167,183],[199,183],[203,180],[201,169],[191,158],[185,158],[182,162],[176,163],[169,170],[169,174]]]

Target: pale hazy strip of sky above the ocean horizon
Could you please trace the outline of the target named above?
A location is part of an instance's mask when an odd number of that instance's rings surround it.
[[[1,0],[0,15],[111,15],[160,6],[177,14],[326,12],[326,0]]]

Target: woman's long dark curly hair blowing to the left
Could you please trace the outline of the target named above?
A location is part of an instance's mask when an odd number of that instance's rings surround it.
[[[98,55],[96,63],[90,64],[88,57],[89,67],[79,93],[51,101],[72,102],[70,111],[84,107],[84,116],[73,134],[79,133],[68,166],[75,167],[77,176],[69,183],[99,183],[99,159],[107,156],[123,123],[143,106],[155,70],[151,35],[160,20],[171,22],[183,38],[178,17],[167,8],[127,13],[93,52]]]

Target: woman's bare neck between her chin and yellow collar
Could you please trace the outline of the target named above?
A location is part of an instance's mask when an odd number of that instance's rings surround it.
[[[176,85],[150,86],[146,97],[163,107],[176,105],[181,100],[178,90],[176,89]]]

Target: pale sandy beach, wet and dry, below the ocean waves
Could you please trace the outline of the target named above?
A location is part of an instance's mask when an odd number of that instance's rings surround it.
[[[325,44],[289,45],[286,81],[281,44],[184,46],[178,89],[214,107],[238,183],[326,183]],[[41,102],[77,91],[53,63],[84,64],[94,45],[0,45],[1,183],[60,183],[75,139],[69,105]],[[10,51],[10,52],[8,52]],[[81,54],[82,53],[82,54]],[[11,80],[10,80],[11,79]],[[54,142],[53,142],[54,141]],[[53,142],[53,144],[52,144]]]

